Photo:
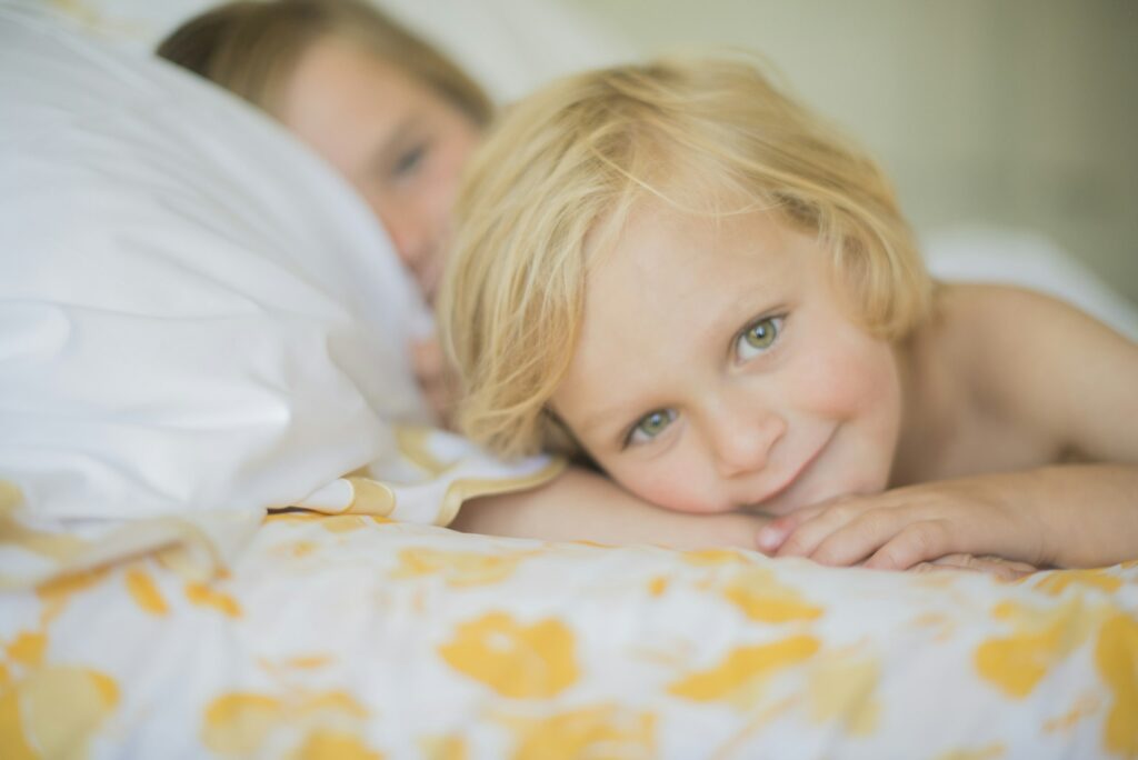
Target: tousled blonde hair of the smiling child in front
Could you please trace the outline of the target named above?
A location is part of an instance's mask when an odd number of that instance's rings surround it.
[[[882,172],[754,65],[586,73],[509,110],[468,168],[439,295],[467,436],[505,456],[577,453],[546,405],[576,349],[589,257],[648,198],[712,216],[765,209],[817,232],[876,336],[899,339],[929,311]]]

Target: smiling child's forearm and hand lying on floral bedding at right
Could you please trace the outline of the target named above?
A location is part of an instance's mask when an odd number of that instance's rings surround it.
[[[1138,557],[1138,468],[1072,464],[896,488],[808,507],[759,537],[778,556],[901,570],[953,553],[1036,567]]]

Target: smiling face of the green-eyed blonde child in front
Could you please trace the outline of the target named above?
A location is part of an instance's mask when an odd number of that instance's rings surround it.
[[[883,489],[897,361],[843,311],[827,258],[765,213],[636,209],[588,275],[553,410],[612,478],[683,512]]]

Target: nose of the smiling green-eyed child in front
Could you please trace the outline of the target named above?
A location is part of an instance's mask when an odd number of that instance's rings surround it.
[[[785,419],[753,399],[719,405],[708,415],[708,437],[721,478],[766,468],[785,432]]]

